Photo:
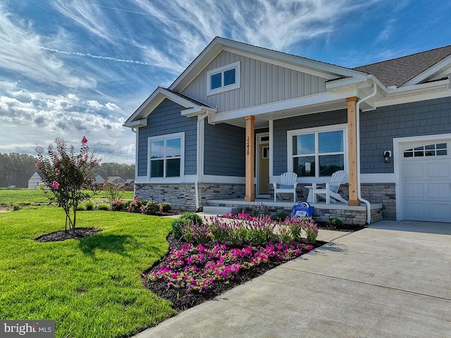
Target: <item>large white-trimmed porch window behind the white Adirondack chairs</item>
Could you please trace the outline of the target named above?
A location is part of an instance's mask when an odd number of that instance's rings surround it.
[[[288,170],[299,177],[330,176],[345,170],[346,126],[288,131]]]

